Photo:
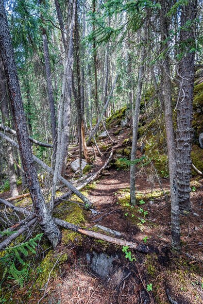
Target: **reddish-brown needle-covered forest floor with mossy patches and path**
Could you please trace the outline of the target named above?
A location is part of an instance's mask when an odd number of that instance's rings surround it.
[[[119,148],[129,130],[118,136],[114,136],[114,132],[115,129],[111,130],[110,135],[115,141],[114,146]],[[108,148],[102,157],[96,156],[93,171],[101,168],[112,148],[107,138],[100,140],[99,144],[101,149],[104,146]],[[91,152],[91,148],[88,150]],[[77,148],[73,148],[71,153],[77,158]],[[140,156],[141,152],[138,151],[137,157]],[[73,176],[70,168],[67,175],[68,179]],[[129,180],[129,170],[118,170],[113,165],[103,172],[101,178],[87,186],[85,195],[98,213],[95,215],[85,211],[83,226],[92,229],[95,224],[100,224],[120,232],[121,238],[128,241],[146,241],[150,253],[134,253],[136,261],[130,262],[118,246],[103,241],[83,238],[81,243],[76,237],[68,245],[62,242],[58,253],[65,250],[68,262],[63,263],[59,275],[51,277],[46,297],[40,303],[167,304],[170,301],[203,304],[203,179],[193,178],[191,181],[191,186],[194,185],[191,192],[192,212],[181,217],[182,252],[179,256],[170,251],[169,179],[158,180],[145,168],[137,170],[138,206],[133,208],[129,204]],[[7,191],[0,196],[8,198],[10,193]],[[86,254],[94,251],[118,254],[118,267],[122,265],[129,271],[126,278],[119,284],[113,282],[112,276],[110,281],[102,280],[86,262]],[[147,289],[149,284],[152,284],[151,291]],[[26,288],[31,286],[28,284]],[[36,288],[28,299],[22,296],[22,290],[16,289],[14,302],[8,303],[37,303],[43,293],[43,288],[42,291]]]

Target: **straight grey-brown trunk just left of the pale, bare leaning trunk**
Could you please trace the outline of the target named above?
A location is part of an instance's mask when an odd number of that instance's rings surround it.
[[[56,113],[55,113],[55,105],[54,105],[54,97],[53,97],[53,87],[52,87],[52,84],[51,84],[51,66],[50,66],[47,35],[46,35],[45,29],[43,29],[42,31],[43,31],[42,39],[43,39],[43,49],[44,49],[44,60],[45,60],[47,88],[48,88],[50,116],[51,116],[51,135],[52,135],[52,143],[53,143],[53,159],[55,159],[56,144],[57,144],[57,141],[56,141],[56,139],[57,139]]]

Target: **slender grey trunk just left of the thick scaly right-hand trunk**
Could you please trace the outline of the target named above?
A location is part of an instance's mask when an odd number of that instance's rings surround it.
[[[179,220],[179,203],[178,203],[178,191],[177,181],[175,179],[176,173],[176,154],[175,154],[175,138],[172,120],[172,102],[171,102],[171,81],[170,81],[170,67],[169,67],[169,55],[168,42],[166,40],[169,37],[169,25],[167,17],[167,4],[165,0],[160,0],[160,29],[161,29],[161,41],[162,51],[165,53],[165,58],[161,62],[162,78],[163,78],[163,96],[164,96],[164,115],[165,115],[165,127],[167,135],[167,149],[169,158],[169,179],[170,179],[170,204],[171,204],[171,236],[172,247],[174,249],[180,249],[180,220]]]

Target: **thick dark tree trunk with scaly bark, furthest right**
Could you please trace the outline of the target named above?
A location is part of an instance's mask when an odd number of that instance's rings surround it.
[[[177,181],[179,206],[182,213],[188,212],[190,206],[190,177],[191,177],[191,149],[192,149],[192,114],[195,52],[195,17],[197,1],[189,1],[182,7],[180,53],[182,59],[178,65],[179,96],[177,106]],[[188,23],[189,22],[189,23]],[[188,24],[188,25],[186,25]]]

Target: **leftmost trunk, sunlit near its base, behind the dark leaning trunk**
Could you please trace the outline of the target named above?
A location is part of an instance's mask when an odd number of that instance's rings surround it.
[[[5,72],[3,69],[3,63],[0,57],[0,109],[2,114],[2,121],[7,121],[9,123],[9,107],[8,107],[8,98],[7,98],[7,87],[6,87],[6,79]],[[14,166],[14,152],[11,146],[8,144],[5,145],[5,158],[7,161],[7,174],[9,178],[10,192],[11,196],[18,195],[17,190],[17,180],[16,180],[16,172]]]

